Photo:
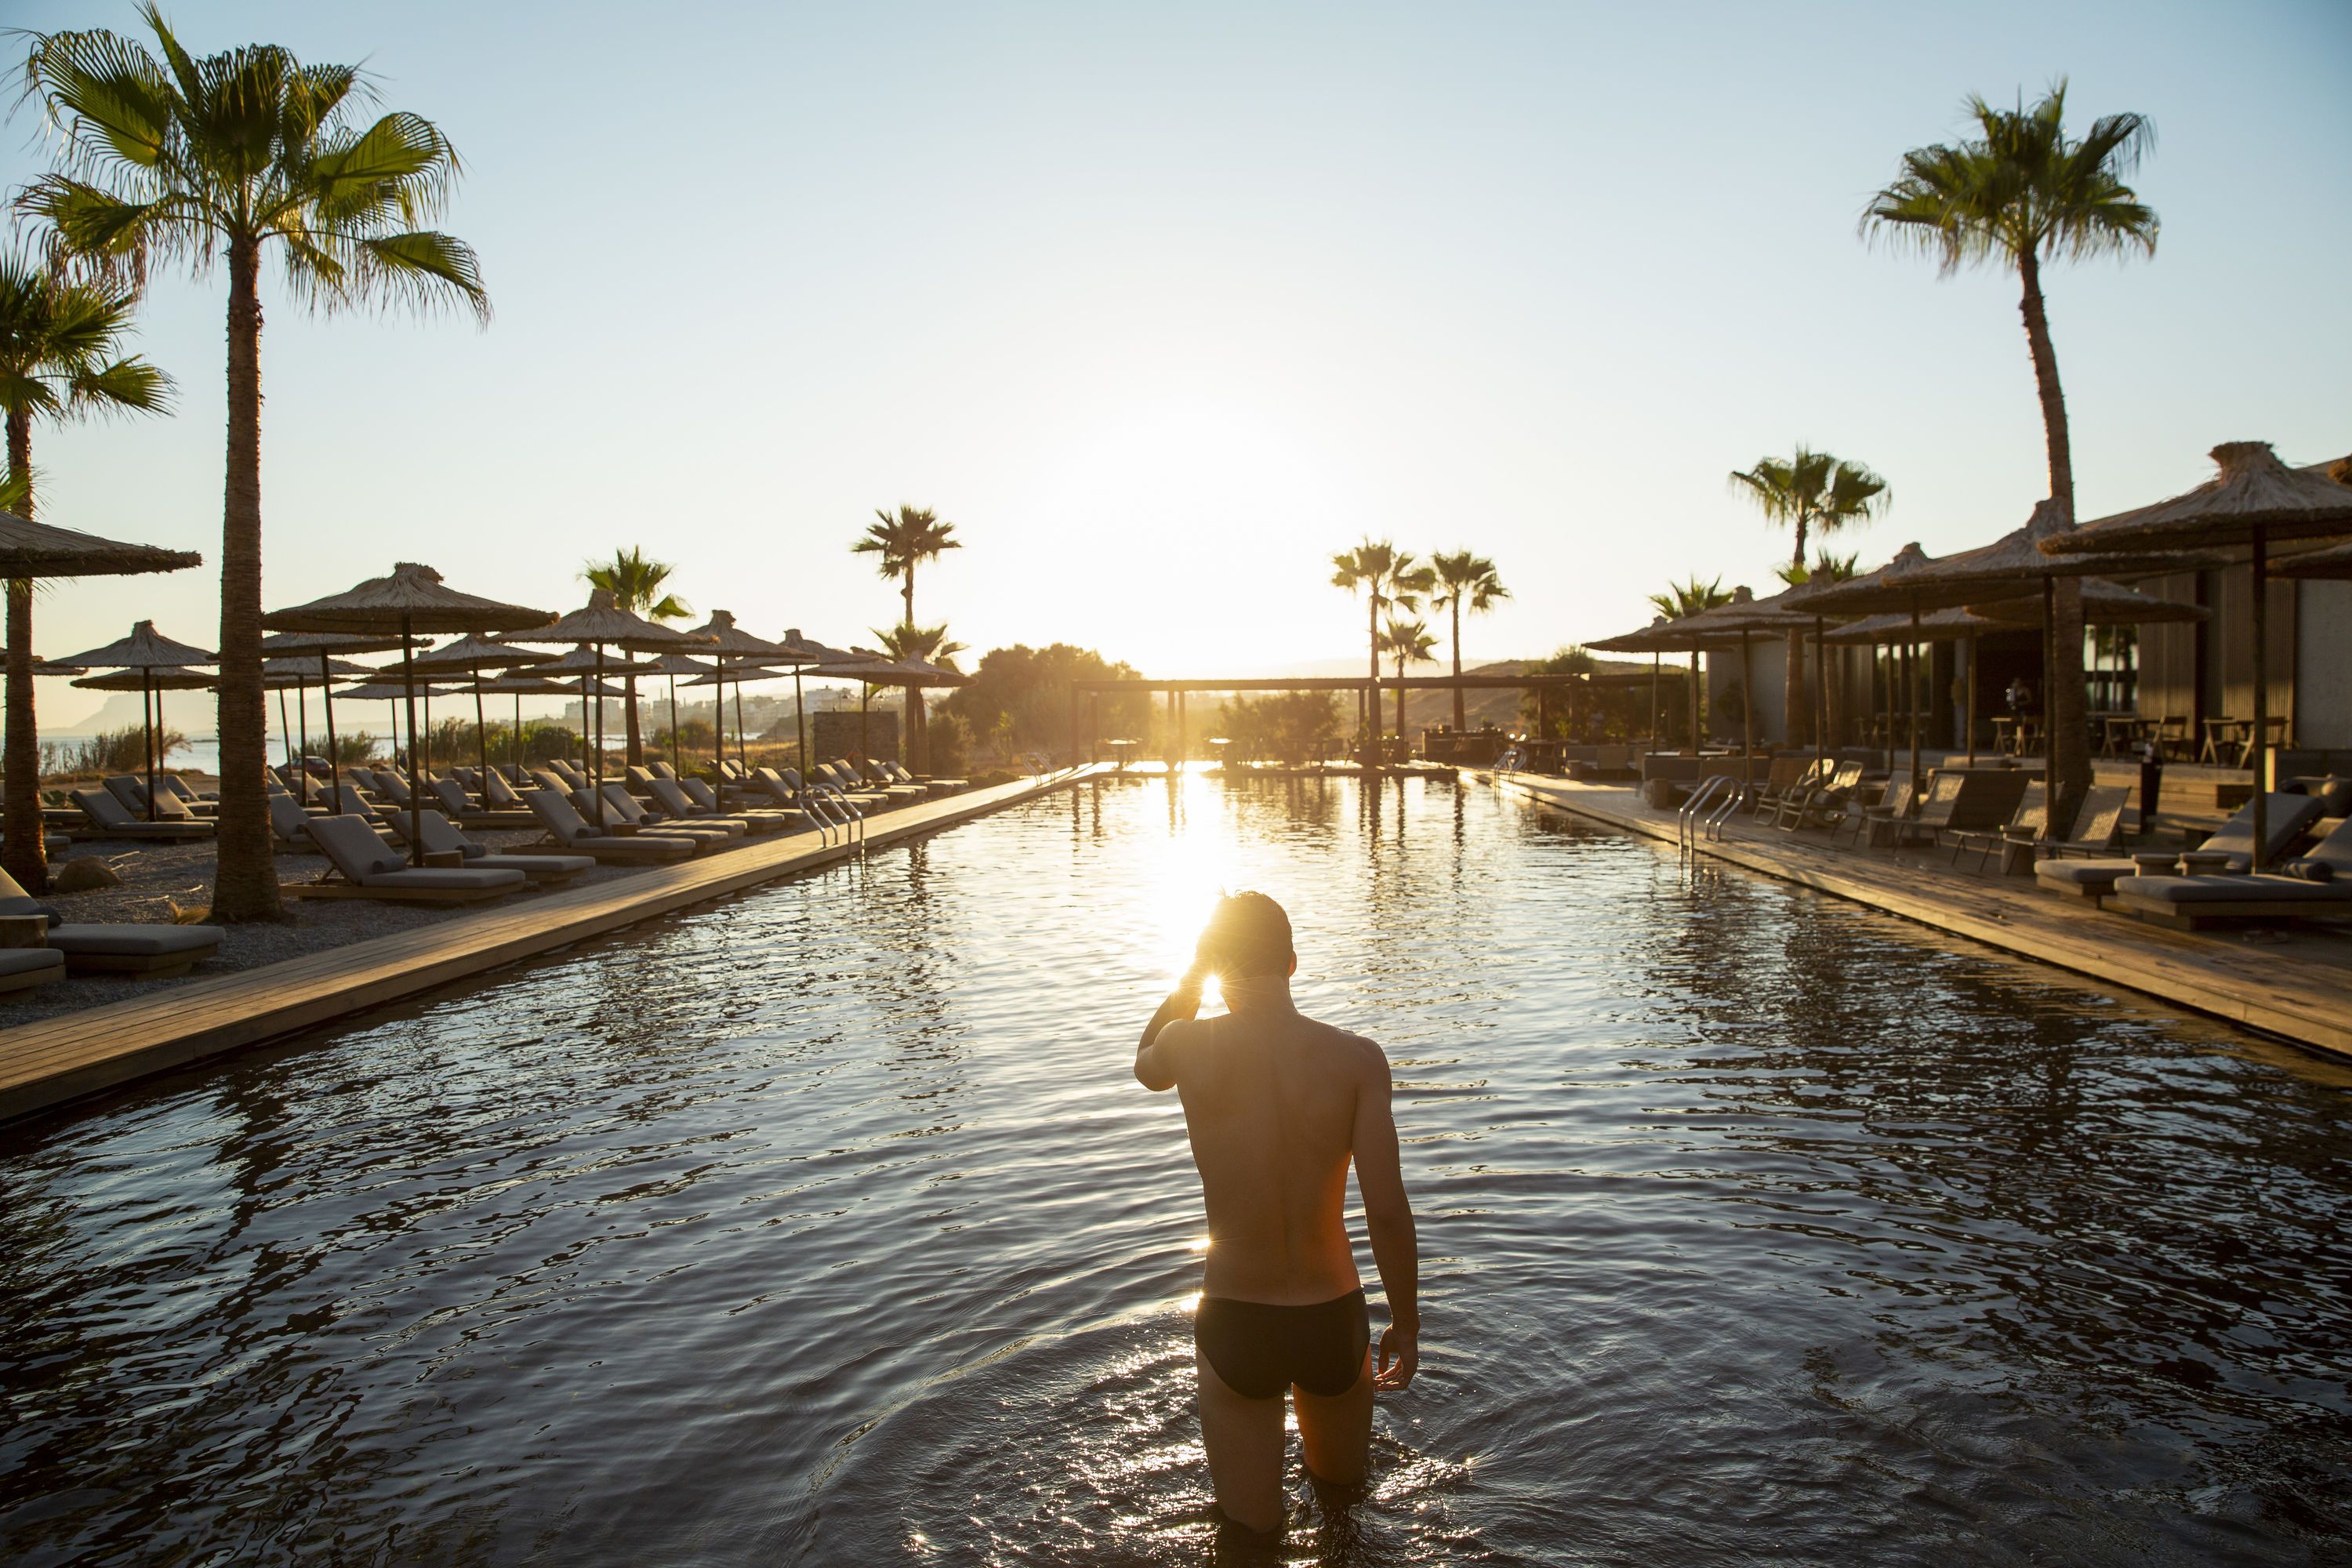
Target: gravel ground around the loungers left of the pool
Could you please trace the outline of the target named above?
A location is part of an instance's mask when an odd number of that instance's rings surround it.
[[[513,832],[482,830],[468,837],[496,853],[517,844],[541,842],[546,835],[536,827],[527,827]],[[743,842],[762,844],[767,839]],[[52,905],[66,917],[66,922],[172,922],[181,914],[205,910],[212,903],[209,839],[193,844],[82,842],[52,860],[49,877],[56,877],[64,860],[80,856],[106,860],[115,867],[115,875],[122,877],[122,886],[96,889],[89,893],[45,893],[42,903]],[[633,877],[640,870],[642,867],[597,865],[595,870],[581,872],[564,886],[590,886],[595,882]],[[313,882],[325,872],[325,856],[278,856],[280,882]],[[548,891],[550,889],[529,886],[520,893],[508,893],[501,905],[492,907],[513,907],[520,900],[543,898]],[[35,1018],[75,1013],[85,1006],[103,1006],[108,1001],[127,1001],[132,997],[153,997],[174,985],[186,985],[188,980],[226,976],[259,964],[278,964],[280,959],[296,959],[306,952],[325,952],[327,947],[341,947],[343,943],[365,943],[367,938],[390,936],[395,931],[414,931],[416,926],[430,926],[468,912],[470,910],[463,907],[435,910],[412,903],[374,903],[367,898],[289,898],[285,924],[223,926],[219,957],[198,964],[186,976],[174,980],[68,976],[28,992],[0,994],[0,1030],[19,1023],[33,1023]]]

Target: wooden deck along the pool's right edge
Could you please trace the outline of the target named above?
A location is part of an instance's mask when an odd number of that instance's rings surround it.
[[[1531,773],[1496,780],[1545,806],[1675,844],[1675,813],[1630,788]],[[1766,877],[1853,898],[1924,926],[2056,964],[2298,1046],[2352,1056],[2352,931],[2307,926],[2274,943],[2183,933],[2039,891],[2032,877],[1969,875],[1947,851],[1832,849],[1745,820],[1703,853]]]

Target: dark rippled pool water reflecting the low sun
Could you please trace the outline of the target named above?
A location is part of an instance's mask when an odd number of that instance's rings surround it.
[[[0,1559],[1216,1561],[1129,1065],[1221,884],[1421,1213],[1291,1561],[2352,1549],[2352,1072],[1479,788],[1195,778],[0,1131]]]

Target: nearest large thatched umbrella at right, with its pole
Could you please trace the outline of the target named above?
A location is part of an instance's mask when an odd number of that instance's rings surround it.
[[[2143,555],[2178,548],[2244,548],[2253,569],[2253,870],[2270,835],[2270,548],[2352,534],[2352,458],[2288,468],[2270,442],[2223,442],[2220,470],[2197,489],[2086,522],[2042,541],[2053,557]]]

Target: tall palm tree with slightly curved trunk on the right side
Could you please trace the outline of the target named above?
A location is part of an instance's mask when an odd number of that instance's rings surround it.
[[[2152,256],[2157,214],[2124,176],[2140,162],[2154,127],[2145,115],[2103,115],[2091,134],[2065,134],[2065,80],[2039,103],[1994,108],[1969,99],[1978,136],[1957,146],[1912,148],[1903,172],[1863,209],[1863,235],[1936,256],[1938,275],[1994,263],[2018,270],[2018,313],[2042,395],[2051,501],[2074,527],[2074,449],[2067,440],[2058,353],[2042,299],[2044,261]],[[2049,722],[2056,731],[2051,820],[2065,820],[2091,785],[2089,693],[2082,675],[2082,583],[2058,578],[2051,602]]]

